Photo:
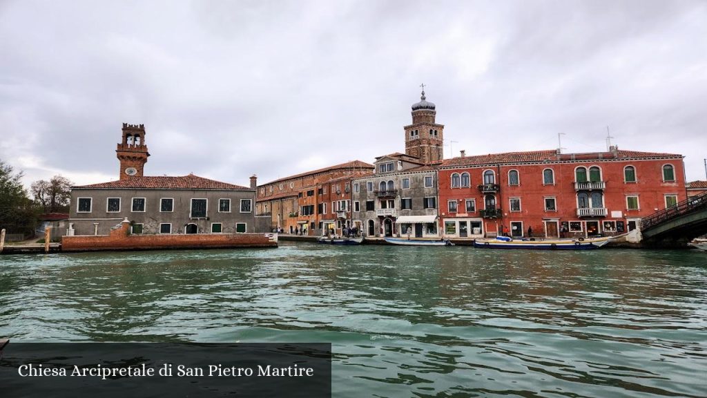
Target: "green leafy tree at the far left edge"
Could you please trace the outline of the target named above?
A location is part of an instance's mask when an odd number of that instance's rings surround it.
[[[22,171],[16,173],[0,159],[0,229],[33,234],[37,215],[22,185],[22,176]]]

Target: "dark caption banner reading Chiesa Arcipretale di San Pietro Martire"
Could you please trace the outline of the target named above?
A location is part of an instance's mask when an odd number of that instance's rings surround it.
[[[325,343],[9,343],[0,395],[331,397]]]

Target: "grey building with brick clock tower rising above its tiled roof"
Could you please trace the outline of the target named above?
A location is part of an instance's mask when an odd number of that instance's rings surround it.
[[[262,232],[255,187],[188,176],[144,176],[144,125],[123,125],[119,180],[71,188],[71,234],[107,235],[127,218],[132,234]]]

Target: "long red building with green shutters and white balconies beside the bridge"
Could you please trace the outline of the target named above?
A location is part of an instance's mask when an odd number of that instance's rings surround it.
[[[439,167],[446,237],[619,234],[686,198],[683,157],[619,150],[455,157]]]

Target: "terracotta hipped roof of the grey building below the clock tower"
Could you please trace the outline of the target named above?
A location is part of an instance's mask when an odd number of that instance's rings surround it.
[[[209,178],[194,176],[179,177],[148,177],[148,176],[133,176],[124,180],[110,181],[110,183],[98,183],[85,186],[74,186],[72,189],[206,189],[218,191],[231,190],[250,190],[245,186],[238,186],[230,183],[222,183],[221,181],[209,180]]]

